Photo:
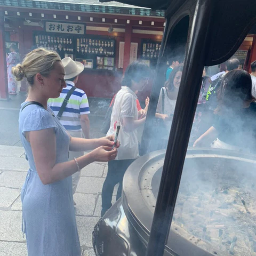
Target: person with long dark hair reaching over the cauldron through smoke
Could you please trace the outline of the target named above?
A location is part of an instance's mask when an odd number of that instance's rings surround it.
[[[217,92],[219,117],[194,147],[223,148],[255,153],[256,106],[252,96],[252,79],[244,70],[232,70],[225,75]]]

